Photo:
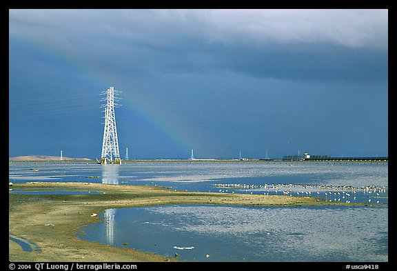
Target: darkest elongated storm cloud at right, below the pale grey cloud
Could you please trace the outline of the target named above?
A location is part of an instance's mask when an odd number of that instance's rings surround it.
[[[223,68],[256,77],[298,81],[387,79],[387,52],[312,46],[310,52],[238,48],[217,55]],[[328,48],[324,50],[324,48]]]

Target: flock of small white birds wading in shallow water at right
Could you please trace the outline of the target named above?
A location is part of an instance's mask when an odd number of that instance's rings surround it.
[[[219,192],[234,193],[236,190],[243,192],[250,192],[251,194],[264,195],[275,194],[283,196],[298,196],[298,197],[323,197],[325,201],[344,201],[351,203],[351,201],[367,201],[371,203],[380,203],[380,199],[387,199],[388,188],[378,185],[368,185],[361,187],[354,187],[352,185],[299,185],[299,184],[241,184],[241,183],[215,183],[216,188],[220,188]],[[375,201],[376,200],[376,201]]]

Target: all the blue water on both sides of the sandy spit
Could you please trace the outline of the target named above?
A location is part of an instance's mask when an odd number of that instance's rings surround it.
[[[186,261],[388,261],[387,163],[10,163],[9,179],[365,202],[380,208],[112,209],[101,214],[101,223],[85,228],[81,238],[171,257],[177,253]]]

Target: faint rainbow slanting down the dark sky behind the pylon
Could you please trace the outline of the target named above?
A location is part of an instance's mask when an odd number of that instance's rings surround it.
[[[200,153],[203,155],[209,153],[203,144],[202,134],[194,133],[192,129],[183,129],[183,126],[187,125],[187,120],[183,119],[179,112],[175,112],[176,110],[172,106],[166,106],[161,99],[147,99],[145,93],[134,89],[134,86],[130,89],[121,86],[121,89],[118,89],[118,85],[121,85],[120,82],[110,79],[111,76],[104,76],[100,72],[96,72],[82,59],[76,59],[66,50],[56,50],[54,49],[56,46],[50,47],[48,43],[31,37],[23,37],[10,31],[10,50],[12,46],[32,52],[37,59],[43,59],[50,66],[59,68],[65,77],[77,78],[79,82],[83,82],[85,89],[88,87],[95,92],[101,92],[114,86],[116,90],[121,90],[120,97],[123,98],[123,107],[149,124],[153,128],[152,132],[155,137],[170,142],[179,152],[186,153],[186,158],[190,157],[191,149],[199,153],[199,156]],[[123,86],[128,83],[130,82],[123,82]],[[164,114],[164,112],[167,113]],[[199,131],[196,132],[199,133]]]

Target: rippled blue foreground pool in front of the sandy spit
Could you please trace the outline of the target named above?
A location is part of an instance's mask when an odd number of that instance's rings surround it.
[[[101,216],[81,238],[181,261],[388,261],[387,208],[166,205]]]

